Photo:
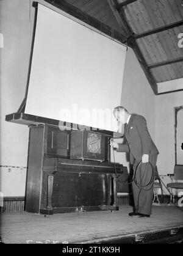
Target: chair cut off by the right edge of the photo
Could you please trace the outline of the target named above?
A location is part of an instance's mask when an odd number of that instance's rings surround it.
[[[178,182],[183,180],[183,164],[174,165],[174,173],[167,174],[171,178],[171,183],[167,184],[167,189],[170,191],[170,203],[174,203],[173,189],[175,189],[176,195],[178,195],[178,189],[183,190],[183,182]]]

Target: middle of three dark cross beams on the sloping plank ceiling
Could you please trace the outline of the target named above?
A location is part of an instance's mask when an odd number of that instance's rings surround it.
[[[139,38],[142,38],[142,37],[147,37],[148,35],[156,34],[156,33],[162,32],[162,31],[166,31],[167,29],[173,29],[173,27],[179,27],[179,26],[182,26],[182,25],[183,25],[183,20],[176,21],[174,23],[171,23],[171,24],[168,24],[168,25],[165,25],[165,26],[162,26],[162,27],[158,27],[157,29],[151,29],[147,32],[143,32],[141,34],[134,35],[134,38],[139,39]]]

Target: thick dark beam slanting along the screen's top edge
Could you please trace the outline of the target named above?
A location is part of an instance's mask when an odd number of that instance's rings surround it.
[[[83,21],[84,23],[87,23],[89,26],[95,27],[95,29],[98,29],[102,33],[109,35],[109,37],[112,37],[113,39],[116,39],[121,43],[123,43],[124,40],[126,40],[126,36],[118,32],[117,30],[107,26],[106,24],[102,23],[96,18],[93,18],[87,13],[82,12],[82,10],[69,4],[65,0],[45,0],[45,2],[48,2],[49,4],[54,5],[58,9],[63,10],[63,12],[66,12],[71,16],[74,16],[75,18]]]

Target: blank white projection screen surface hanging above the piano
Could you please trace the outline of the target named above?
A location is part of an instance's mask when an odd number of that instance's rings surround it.
[[[38,5],[26,114],[117,131],[126,46]]]

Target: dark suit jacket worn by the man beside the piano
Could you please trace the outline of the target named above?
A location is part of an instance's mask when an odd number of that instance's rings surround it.
[[[126,144],[119,144],[118,152],[130,152],[131,163],[141,161],[143,154],[158,154],[156,145],[149,134],[146,119],[142,115],[132,114],[126,124],[124,136]]]

